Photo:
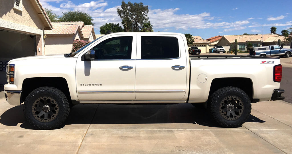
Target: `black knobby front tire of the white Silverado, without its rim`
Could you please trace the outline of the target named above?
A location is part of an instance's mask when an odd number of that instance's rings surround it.
[[[57,115],[54,116],[54,118],[51,118],[51,121],[45,119],[40,121],[37,119],[38,117],[35,117],[36,116],[35,112],[33,113],[33,110],[35,109],[33,105],[35,106],[37,100],[40,98],[44,99],[52,98],[52,100],[55,103],[55,106],[58,106],[58,113]],[[49,103],[46,102],[46,104]],[[52,111],[53,109],[54,108],[51,107]],[[64,124],[65,120],[67,119],[69,115],[69,110],[70,109],[67,97],[62,91],[54,87],[40,87],[35,89],[25,99],[23,107],[24,116],[29,122],[29,124],[31,124],[32,127],[34,127],[35,129],[41,130],[56,129],[60,127],[62,124]]]

